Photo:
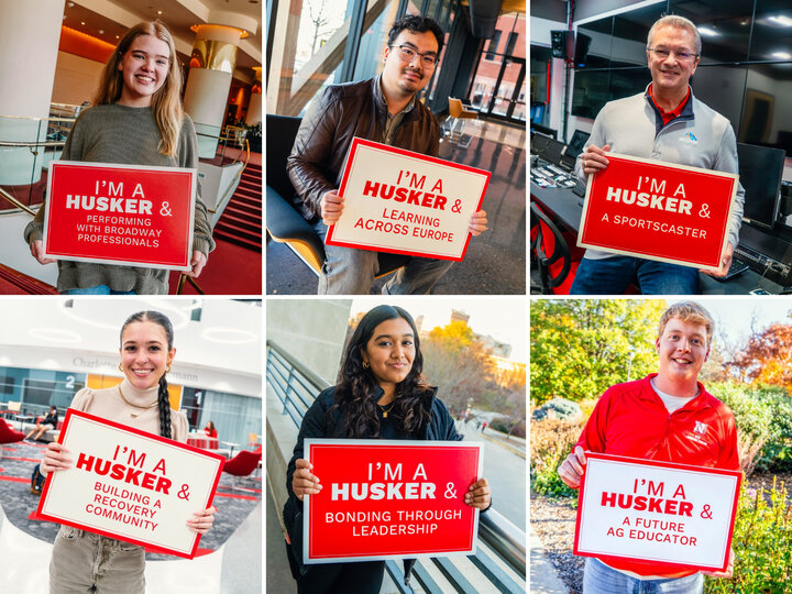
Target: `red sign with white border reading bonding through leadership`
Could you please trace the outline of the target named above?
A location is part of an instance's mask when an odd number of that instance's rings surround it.
[[[482,446],[459,441],[306,439],[323,488],[304,499],[305,563],[473,554]]]

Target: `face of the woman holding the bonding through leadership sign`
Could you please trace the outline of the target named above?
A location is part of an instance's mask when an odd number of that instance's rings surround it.
[[[361,349],[363,361],[371,365],[371,372],[386,393],[407,377],[415,354],[413,327],[404,318],[380,323],[365,348]]]

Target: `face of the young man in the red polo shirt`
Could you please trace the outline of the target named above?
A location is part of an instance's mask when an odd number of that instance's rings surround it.
[[[658,377],[664,382],[695,383],[710,356],[706,327],[671,318],[654,341],[660,356]]]

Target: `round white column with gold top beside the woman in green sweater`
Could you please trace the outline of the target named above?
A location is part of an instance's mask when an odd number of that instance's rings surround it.
[[[235,26],[197,26],[184,107],[196,124],[198,154],[204,158],[212,158],[217,151],[216,136],[222,130],[231,78],[237,65],[237,46],[240,38],[246,35],[245,31]]]

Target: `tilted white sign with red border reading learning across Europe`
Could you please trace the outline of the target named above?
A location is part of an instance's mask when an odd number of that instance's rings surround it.
[[[461,261],[487,184],[490,172],[355,138],[326,243]]]

